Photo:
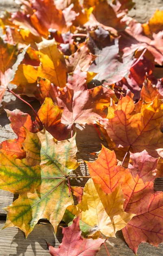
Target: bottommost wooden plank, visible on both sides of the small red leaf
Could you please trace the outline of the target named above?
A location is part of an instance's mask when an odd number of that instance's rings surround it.
[[[2,228],[3,225],[4,221],[0,221],[0,228]],[[0,230],[0,255],[49,256],[50,254],[46,242],[57,248],[61,240],[61,228],[58,228],[57,236],[54,236],[52,225],[44,221],[35,226],[27,239],[24,238],[24,233],[20,229],[11,227]],[[109,238],[109,240],[106,241],[106,247],[110,256],[135,256],[125,243],[122,231],[117,232],[117,238]],[[102,245],[98,256],[105,255],[107,255],[106,249],[104,245]],[[163,255],[163,243],[159,245],[159,249],[148,243],[142,243],[139,246],[138,255],[161,256]]]

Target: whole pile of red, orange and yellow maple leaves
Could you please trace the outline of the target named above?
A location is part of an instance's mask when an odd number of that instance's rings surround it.
[[[35,97],[40,108],[35,120],[6,109],[17,139],[0,144],[0,189],[19,197],[4,227],[27,237],[41,218],[55,232],[63,220],[63,242],[49,245],[51,255],[94,256],[121,229],[135,254],[141,242],[157,247],[163,78],[153,72],[163,63],[163,11],[140,24],[128,16],[132,0],[19,2],[20,11],[0,20],[0,102],[8,90]],[[68,177],[78,167],[76,124],[98,127],[108,142],[87,162],[84,188]]]

